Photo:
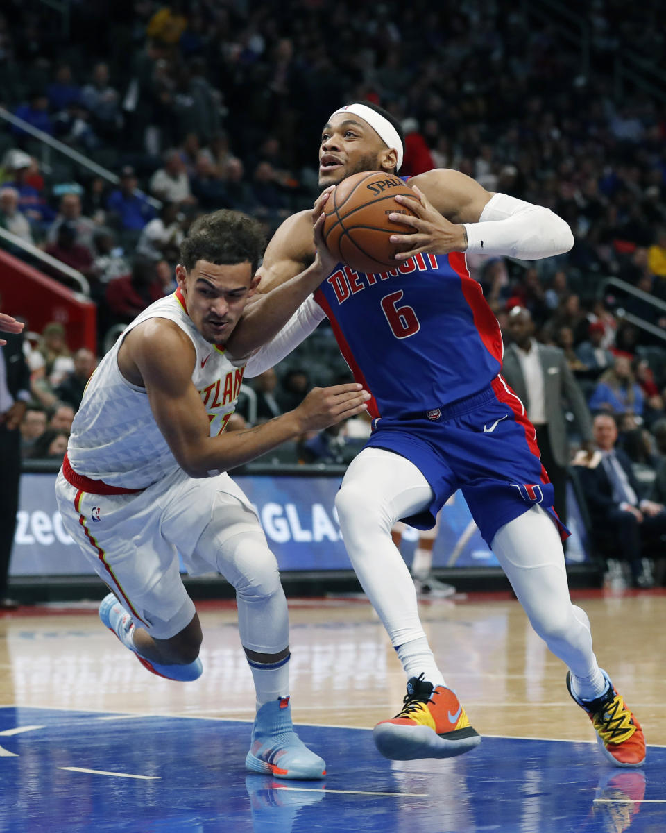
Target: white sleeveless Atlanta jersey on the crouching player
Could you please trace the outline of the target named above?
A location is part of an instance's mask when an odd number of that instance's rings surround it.
[[[180,290],[151,304],[100,362],[72,423],[67,445],[72,469],[109,486],[142,489],[178,467],[152,415],[146,389],[127,382],[118,368],[123,338],[149,318],[168,318],[191,338],[196,350],[192,383],[206,407],[211,436],[224,431],[241,389],[247,359],[236,361],[206,342],[187,315]],[[256,354],[250,361],[258,358]]]

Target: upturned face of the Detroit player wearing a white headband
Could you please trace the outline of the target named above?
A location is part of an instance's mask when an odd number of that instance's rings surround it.
[[[352,173],[381,171],[380,157],[386,150],[384,142],[362,118],[337,113],[321,132],[319,187],[337,185]],[[393,170],[393,166],[386,170]]]

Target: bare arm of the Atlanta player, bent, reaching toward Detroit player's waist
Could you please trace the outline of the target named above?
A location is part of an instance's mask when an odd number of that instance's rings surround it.
[[[211,437],[206,409],[191,382],[196,354],[186,334],[171,322],[152,319],[132,331],[126,345],[157,425],[191,477],[241,466],[304,431],[317,431],[365,411],[370,399],[357,384],[315,388],[295,410],[264,425]]]

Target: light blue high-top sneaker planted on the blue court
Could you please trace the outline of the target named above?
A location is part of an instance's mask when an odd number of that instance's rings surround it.
[[[294,731],[289,697],[264,703],[257,711],[245,766],[275,778],[318,781],[326,776],[324,761]]]

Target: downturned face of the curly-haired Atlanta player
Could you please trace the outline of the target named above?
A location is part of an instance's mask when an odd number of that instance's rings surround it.
[[[199,260],[187,272],[176,267],[176,280],[185,298],[187,314],[211,344],[226,342],[255,291],[259,278],[252,277],[249,262],[216,264]]]

